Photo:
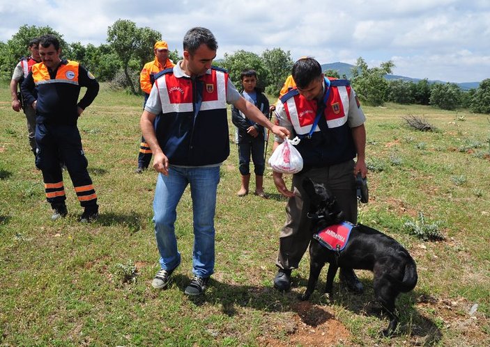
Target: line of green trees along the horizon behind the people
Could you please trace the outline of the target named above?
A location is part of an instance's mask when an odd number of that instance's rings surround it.
[[[28,54],[29,40],[51,33],[61,43],[63,58],[77,60],[87,67],[99,81],[107,81],[114,88],[123,88],[132,94],[141,93],[139,72],[143,65],[153,60],[153,45],[162,40],[162,34],[148,27],[138,27],[128,19],[118,19],[107,29],[107,43],[96,47],[80,42],[68,43],[63,35],[49,26],[21,26],[7,42],[0,42],[0,76],[10,79],[20,57]],[[181,60],[177,49],[169,51],[169,58]],[[291,74],[293,60],[289,51],[281,48],[266,49],[262,54],[238,50],[233,54],[224,54],[222,60],[214,65],[229,71],[231,81],[240,88],[240,72],[245,68],[254,68],[259,78],[258,86],[268,95],[275,97]],[[490,113],[490,79],[484,79],[480,86],[465,92],[455,83],[429,83],[427,79],[418,82],[387,80],[386,74],[392,73],[394,63],[390,60],[379,67],[369,68],[362,57],[358,58],[352,70],[351,84],[362,104],[380,106],[384,102],[398,104],[432,105],[438,108],[454,110],[469,108],[475,113]],[[327,70],[327,76],[339,76],[335,70]]]

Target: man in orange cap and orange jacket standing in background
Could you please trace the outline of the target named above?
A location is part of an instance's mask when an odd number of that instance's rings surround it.
[[[155,52],[155,60],[152,60],[146,63],[139,74],[139,85],[141,86],[141,90],[144,92],[144,104],[146,105],[146,100],[148,96],[150,96],[151,87],[153,87],[153,83],[155,82],[155,75],[158,72],[170,69],[174,67],[174,62],[169,59],[169,46],[165,41],[157,41],[153,46],[153,51]],[[139,145],[139,154],[138,154],[138,168],[135,172],[141,173],[143,170],[148,168],[148,165],[151,161],[151,149],[148,143],[143,136],[141,136],[141,143]]]

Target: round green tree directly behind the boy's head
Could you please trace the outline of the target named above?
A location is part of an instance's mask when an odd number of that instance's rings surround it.
[[[253,69],[257,72],[257,79],[259,80],[257,86],[259,88],[263,89],[268,81],[267,70],[262,59],[250,51],[240,49],[234,54],[225,53],[222,67],[228,70],[231,81],[235,83],[238,89],[241,88],[240,73],[245,69]]]

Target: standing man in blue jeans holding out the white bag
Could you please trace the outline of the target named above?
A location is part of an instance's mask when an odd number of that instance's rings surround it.
[[[157,79],[141,115],[141,130],[160,172],[153,200],[155,236],[161,270],[152,285],[164,289],[181,264],[174,223],[176,208],[190,184],[194,213],[193,280],[185,294],[204,292],[215,264],[215,204],[220,166],[229,155],[227,104],[280,138],[289,131],[271,123],[240,95],[227,72],[211,67],[217,42],[208,29],[187,31],[183,60]]]

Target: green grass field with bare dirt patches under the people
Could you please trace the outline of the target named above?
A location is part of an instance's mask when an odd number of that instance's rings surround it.
[[[273,289],[286,200],[270,169],[264,179],[269,199],[236,197],[233,143],[221,170],[210,287],[201,298],[183,294],[192,277],[187,192],[176,223],[181,266],[167,290],[153,289],[156,174],[134,173],[141,104],[142,97],[102,86],[79,119],[100,218],[77,222],[82,208],[65,172],[69,214],[52,222],[24,115],[12,111],[8,86],[1,86],[0,346],[489,346],[488,116],[427,106],[364,107],[371,200],[360,207],[359,221],[397,239],[418,264],[418,285],[399,296],[401,326],[388,339],[379,336],[388,321],[378,314],[369,272],[357,272],[365,284],[360,296],[336,280],[333,303],[319,290],[300,302],[305,255],[293,271],[291,292]],[[407,115],[425,118],[436,131],[406,127]],[[436,225],[445,239],[419,239],[406,222]],[[326,269],[318,289],[325,276]]]

